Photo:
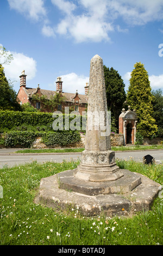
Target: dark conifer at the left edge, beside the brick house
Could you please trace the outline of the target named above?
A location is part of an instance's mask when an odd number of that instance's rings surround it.
[[[17,101],[17,94],[9,84],[4,74],[4,68],[0,64],[0,109],[20,111],[21,106]]]

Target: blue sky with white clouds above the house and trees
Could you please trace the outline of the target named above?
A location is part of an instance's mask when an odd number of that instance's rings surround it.
[[[1,0],[0,44],[14,60],[5,75],[18,92],[27,87],[84,94],[95,54],[129,85],[136,62],[145,65],[152,89],[163,89],[163,0]],[[159,48],[160,47],[160,48]]]

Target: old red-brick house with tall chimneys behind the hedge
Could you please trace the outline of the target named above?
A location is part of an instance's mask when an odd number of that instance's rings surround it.
[[[50,100],[53,95],[56,95],[59,93],[61,96],[63,96],[63,101],[60,105],[57,106],[57,109],[59,111],[64,111],[64,107],[70,107],[71,111],[78,111],[80,115],[82,115],[82,112],[85,111],[87,107],[87,95],[88,95],[88,89],[89,89],[89,84],[86,83],[85,88],[85,94],[78,94],[78,91],[76,90],[75,93],[66,93],[63,92],[62,90],[62,81],[61,77],[57,78],[56,83],[56,90],[45,90],[41,89],[39,84],[37,88],[29,88],[26,86],[26,77],[25,71],[22,71],[22,74],[20,76],[20,90],[18,91],[17,97],[18,100],[20,101],[21,104],[24,103],[30,103],[32,106],[34,106],[37,109],[40,109],[41,107],[41,102],[33,102],[33,95],[38,95],[38,96],[45,96],[46,99]],[[51,112],[51,110],[43,109],[45,112]]]

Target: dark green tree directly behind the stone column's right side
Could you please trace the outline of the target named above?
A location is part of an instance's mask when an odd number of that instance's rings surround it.
[[[121,114],[123,103],[126,100],[126,92],[124,90],[125,84],[114,68],[106,68],[104,65],[104,76],[106,86],[106,98],[108,110],[113,114],[115,125],[118,129],[118,118]]]

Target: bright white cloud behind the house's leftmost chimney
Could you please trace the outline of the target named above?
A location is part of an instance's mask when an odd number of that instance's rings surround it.
[[[36,61],[23,53],[11,52],[14,58],[9,65],[4,66],[5,76],[10,80],[18,80],[22,71],[28,74],[28,80],[32,80],[36,74]]]

